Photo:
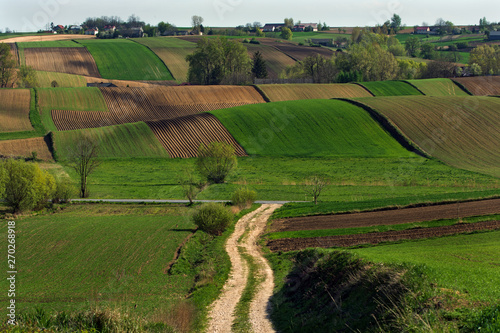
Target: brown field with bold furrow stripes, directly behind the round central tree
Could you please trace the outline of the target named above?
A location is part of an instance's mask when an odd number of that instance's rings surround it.
[[[247,155],[219,120],[209,113],[146,124],[172,158],[196,157],[200,144],[210,142],[226,142],[234,147],[237,156]]]

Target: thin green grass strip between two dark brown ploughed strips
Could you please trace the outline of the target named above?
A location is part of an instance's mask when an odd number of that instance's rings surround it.
[[[476,223],[484,221],[498,221],[500,214],[488,216],[466,217],[461,220],[462,223]],[[343,235],[359,235],[372,232],[400,231],[414,228],[436,228],[450,226],[459,223],[458,219],[445,219],[415,223],[403,223],[394,225],[379,225],[372,227],[360,228],[345,228],[345,229],[322,229],[322,230],[301,230],[301,231],[282,231],[273,232],[266,235],[268,239],[280,238],[307,238],[307,237],[327,237],[327,236],[343,236]]]

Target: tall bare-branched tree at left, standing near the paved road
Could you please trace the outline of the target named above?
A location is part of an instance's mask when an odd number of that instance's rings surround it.
[[[73,147],[69,149],[68,161],[80,178],[80,197],[89,196],[87,178],[99,166],[99,144],[88,136],[80,136]]]

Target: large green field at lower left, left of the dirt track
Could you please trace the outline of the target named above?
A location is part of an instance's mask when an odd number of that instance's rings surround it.
[[[165,312],[194,284],[192,275],[163,272],[194,228],[187,215],[183,207],[82,205],[16,219],[16,310],[35,303],[59,311],[110,305],[145,318]]]

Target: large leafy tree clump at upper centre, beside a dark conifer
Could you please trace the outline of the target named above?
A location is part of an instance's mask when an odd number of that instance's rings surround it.
[[[202,38],[186,60],[188,79],[194,84],[244,83],[251,69],[246,47],[223,37]]]

